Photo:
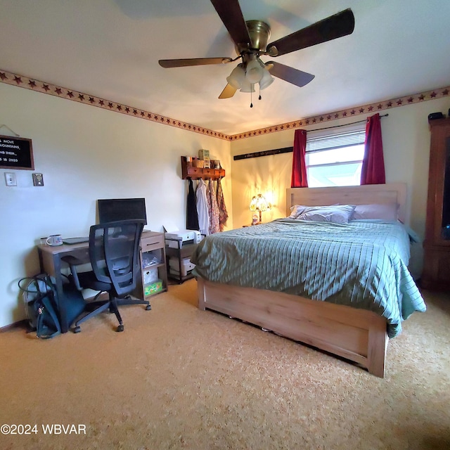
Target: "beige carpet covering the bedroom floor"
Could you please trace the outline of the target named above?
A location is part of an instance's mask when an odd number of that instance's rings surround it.
[[[450,295],[425,295],[385,379],[196,298],[191,280],[123,307],[124,333],[109,314],[51,341],[1,333],[0,425],[37,433],[0,449],[450,449]]]

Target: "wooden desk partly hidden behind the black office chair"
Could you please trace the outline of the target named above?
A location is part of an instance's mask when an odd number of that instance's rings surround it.
[[[164,236],[163,233],[157,233],[155,231],[143,231],[141,236],[142,241],[146,242],[148,238]],[[164,255],[164,238],[161,240],[162,252]],[[142,245],[141,245],[142,248]],[[141,250],[142,251],[142,250]],[[45,272],[53,276],[56,280],[56,292],[58,293],[58,309],[60,311],[61,319],[61,331],[63,333],[68,332],[67,320],[65,314],[65,304],[64,304],[64,291],[63,291],[63,277],[61,276],[62,258],[68,255],[73,255],[80,259],[82,262],[89,263],[89,243],[79,243],[79,244],[63,244],[52,247],[51,245],[38,245],[37,252],[39,255],[39,266],[41,272]],[[164,257],[165,266],[165,257]],[[65,264],[65,263],[64,263]],[[65,264],[67,266],[67,264]],[[167,272],[165,273],[165,279],[162,280],[164,285],[164,290],[167,290]],[[164,273],[162,276],[164,277]],[[138,283],[139,288],[136,289],[135,296],[143,299],[143,286],[142,282]]]

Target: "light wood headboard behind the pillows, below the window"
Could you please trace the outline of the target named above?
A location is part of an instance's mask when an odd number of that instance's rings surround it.
[[[404,222],[406,184],[365,184],[364,186],[333,186],[330,188],[286,189],[286,216],[293,205],[369,205],[372,203],[399,205],[399,220]]]

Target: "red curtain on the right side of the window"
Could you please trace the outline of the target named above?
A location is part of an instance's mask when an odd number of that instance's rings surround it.
[[[361,184],[385,184],[385,182],[380,115],[375,114],[367,118]]]

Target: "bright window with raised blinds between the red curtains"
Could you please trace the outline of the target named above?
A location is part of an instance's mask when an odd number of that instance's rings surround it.
[[[307,137],[308,186],[358,186],[366,129]]]

